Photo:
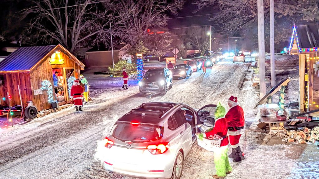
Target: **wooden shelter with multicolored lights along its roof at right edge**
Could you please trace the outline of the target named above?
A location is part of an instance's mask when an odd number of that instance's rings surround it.
[[[319,109],[319,23],[294,25],[290,54],[299,56],[300,112]],[[309,116],[316,117],[319,113]]]

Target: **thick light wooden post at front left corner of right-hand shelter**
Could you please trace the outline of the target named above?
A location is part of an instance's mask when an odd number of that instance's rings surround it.
[[[299,55],[299,105],[300,112],[305,111],[305,60],[306,54]]]

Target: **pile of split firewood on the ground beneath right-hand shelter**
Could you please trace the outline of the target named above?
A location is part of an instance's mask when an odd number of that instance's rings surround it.
[[[298,144],[315,143],[315,140],[319,141],[319,126],[315,126],[311,130],[304,127],[302,130],[287,131],[287,136],[287,142],[296,142]]]

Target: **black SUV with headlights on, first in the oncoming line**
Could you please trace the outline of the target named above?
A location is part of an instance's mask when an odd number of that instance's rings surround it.
[[[163,92],[166,94],[167,87],[172,88],[173,78],[168,68],[149,69],[142,81],[138,83],[140,94],[149,92]]]

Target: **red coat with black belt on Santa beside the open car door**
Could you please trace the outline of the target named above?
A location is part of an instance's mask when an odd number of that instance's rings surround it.
[[[245,132],[243,128],[245,125],[244,110],[239,105],[230,108],[225,118],[228,123],[229,135],[239,135]],[[242,129],[236,129],[238,127]]]

